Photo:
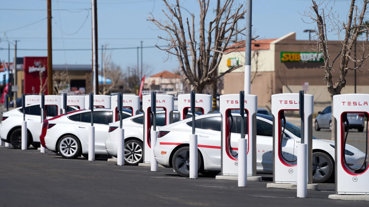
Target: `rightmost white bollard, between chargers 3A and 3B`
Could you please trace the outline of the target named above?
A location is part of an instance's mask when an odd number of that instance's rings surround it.
[[[297,197],[307,197],[307,144],[297,144]]]

